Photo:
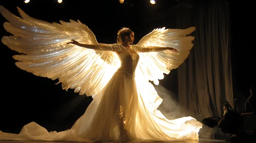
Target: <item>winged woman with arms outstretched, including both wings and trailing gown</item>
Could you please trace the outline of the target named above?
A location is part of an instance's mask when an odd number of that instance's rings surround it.
[[[152,142],[198,139],[198,132],[202,128],[200,122],[192,117],[168,120],[160,111],[156,110],[162,99],[148,82],[147,77],[143,77],[143,75],[145,76],[143,68],[151,69],[145,67],[147,61],[141,60],[139,57],[140,53],[148,53],[142,55],[141,58],[150,59],[152,57],[152,60],[155,60],[158,64],[162,59],[162,65],[164,63],[166,65],[163,66],[163,70],[178,67],[192,47],[191,40],[193,40],[193,37],[186,35],[194,31],[193,27],[186,30],[157,29],[151,33],[151,35],[156,35],[156,39],[145,37],[139,42],[140,44],[136,45],[131,45],[134,40],[134,32],[128,28],[122,28],[117,33],[117,43],[99,44],[92,32],[84,25],[80,25],[79,21],[78,23],[61,21],[62,25],[59,25],[31,18],[21,9],[19,9],[19,12],[23,19],[12,15],[3,7],[0,7],[0,12],[11,23],[11,25],[8,23],[4,25],[5,29],[14,36],[19,36],[19,38],[3,37],[2,41],[12,50],[28,54],[16,57],[17,60],[21,61],[16,63],[19,68],[37,76],[52,79],[58,76],[60,82],[63,82],[64,88],[75,88],[75,91],[93,90],[87,92],[88,94],[86,93],[87,96],[93,96],[93,101],[84,115],[78,118],[70,130],[48,132],[40,125],[31,122],[25,125],[19,134],[0,132],[0,139],[88,142]],[[77,38],[77,33],[80,32],[77,31],[79,28],[83,28],[83,32],[86,32],[86,34],[81,34],[86,35],[84,40]],[[37,31],[40,31],[40,34]],[[160,35],[157,36],[157,34]],[[165,40],[165,42],[162,42],[164,44],[153,42],[154,45],[145,46],[150,41],[161,41],[161,36]],[[75,38],[83,43],[73,40]],[[168,41],[168,39],[172,40]],[[40,42],[44,44],[38,46]],[[178,47],[180,51],[178,52],[171,46]],[[170,52],[170,50],[173,52]],[[86,54],[80,56],[80,53]],[[116,55],[121,61],[120,65],[116,62]],[[49,61],[49,59],[52,60]],[[88,62],[89,60],[93,62]],[[139,63],[139,61],[143,62]],[[114,63],[117,63],[117,66],[112,66]],[[90,64],[92,66],[89,66],[89,68],[88,65]],[[153,64],[152,61],[150,65],[146,66],[153,66]],[[137,65],[140,68],[136,68]],[[162,65],[159,64],[158,66],[161,67]],[[110,69],[106,69],[107,67],[118,68],[113,69],[114,73],[112,75],[110,73],[111,76],[101,76],[97,73],[99,70],[104,71],[104,74],[110,72]],[[61,76],[59,72],[62,74]],[[64,74],[64,72],[66,73]],[[155,73],[157,73],[156,70]],[[104,79],[106,77],[110,78]],[[154,75],[148,77],[154,77]],[[156,78],[161,79],[160,76]],[[94,82],[94,79],[100,80]],[[103,80],[107,81],[106,84],[102,83]],[[155,82],[155,78],[152,78],[152,80]],[[145,89],[143,89],[143,86],[145,86]],[[95,89],[91,87],[95,87]],[[84,92],[80,93],[83,94]],[[149,100],[150,97],[154,97],[153,102]]]

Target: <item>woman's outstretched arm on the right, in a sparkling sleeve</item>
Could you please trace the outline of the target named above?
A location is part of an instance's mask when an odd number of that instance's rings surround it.
[[[139,45],[132,45],[132,48],[137,52],[161,52],[164,50],[172,50],[173,52],[178,52],[178,50],[174,49],[173,47],[162,47],[162,46],[139,46]]]

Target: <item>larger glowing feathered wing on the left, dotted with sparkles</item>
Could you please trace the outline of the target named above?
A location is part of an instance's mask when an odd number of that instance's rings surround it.
[[[75,89],[79,94],[93,96],[110,80],[120,66],[114,52],[90,50],[74,44],[75,39],[85,44],[99,44],[91,30],[74,20],[49,23],[30,17],[20,8],[22,18],[3,6],[0,12],[9,21],[4,28],[13,36],[4,36],[2,42],[24,55],[15,55],[15,64],[36,76],[62,82],[63,89]]]

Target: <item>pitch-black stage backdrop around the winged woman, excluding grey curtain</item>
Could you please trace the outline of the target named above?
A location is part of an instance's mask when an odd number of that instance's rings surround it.
[[[135,32],[134,44],[155,28],[176,28],[174,6],[182,6],[189,1],[161,0],[151,5],[149,0],[133,0],[120,4],[111,1],[63,0],[58,4],[54,0],[1,1],[13,14],[19,16],[16,6],[29,16],[48,22],[58,20],[77,20],[85,23],[95,34],[99,43],[115,43],[116,32],[122,27],[129,27]],[[203,2],[203,1],[202,1]],[[254,41],[252,6],[245,2],[229,2],[231,20],[231,60],[234,99],[249,97],[249,86],[255,82],[255,56],[251,51]],[[182,10],[182,9],[181,9]],[[248,17],[248,18],[247,18]],[[6,19],[0,17],[0,36],[10,34],[3,28]],[[73,89],[65,91],[57,80],[37,77],[15,66],[13,55],[2,42],[2,91],[0,96],[0,130],[18,133],[29,122],[45,127],[48,131],[69,129],[86,110],[91,97],[79,96]],[[160,80],[160,85],[171,90],[178,101],[178,72],[173,69]]]

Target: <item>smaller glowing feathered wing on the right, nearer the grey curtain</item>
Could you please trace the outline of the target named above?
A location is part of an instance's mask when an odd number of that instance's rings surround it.
[[[179,52],[170,50],[162,52],[139,53],[140,61],[136,74],[143,77],[145,81],[153,81],[159,84],[163,74],[169,74],[171,69],[178,68],[187,58],[193,46],[193,36],[187,36],[195,30],[188,29],[154,29],[144,36],[136,45],[139,46],[169,46]]]

